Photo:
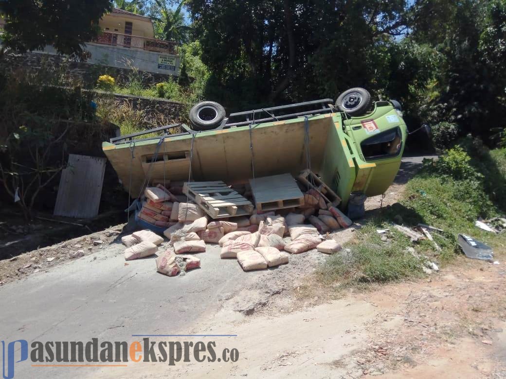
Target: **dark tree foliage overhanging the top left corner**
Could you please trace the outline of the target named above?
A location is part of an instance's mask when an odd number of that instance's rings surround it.
[[[21,52],[53,45],[60,54],[83,56],[82,44],[95,39],[109,0],[4,0],[4,43]]]

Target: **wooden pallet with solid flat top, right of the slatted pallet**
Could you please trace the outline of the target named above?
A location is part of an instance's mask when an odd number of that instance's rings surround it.
[[[304,205],[304,194],[290,174],[249,179],[257,211]]]

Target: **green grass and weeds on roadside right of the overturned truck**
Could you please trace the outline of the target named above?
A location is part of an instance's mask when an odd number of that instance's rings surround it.
[[[457,165],[469,165],[466,178],[455,179],[452,172],[443,174],[438,171],[444,159],[436,164],[426,164],[406,184],[399,203],[369,220],[355,239],[345,244],[344,248],[349,250],[326,260],[318,271],[319,278],[326,283],[339,282],[350,286],[424,275],[425,257],[444,266],[460,254],[456,245],[458,233],[471,235],[488,244],[499,260],[506,258],[506,234],[493,234],[474,225],[480,216],[504,214],[506,202],[501,186],[506,178],[506,149],[489,152],[481,147],[479,155],[469,146],[466,150],[473,154],[471,159],[467,163],[457,162]],[[489,177],[492,174],[495,176]],[[413,244],[393,229],[391,223],[399,216],[405,226],[425,223],[443,229],[443,233],[431,232],[441,252],[436,251],[428,240]],[[377,228],[391,230],[388,241],[381,241]],[[418,258],[407,252],[408,247],[415,249]]]

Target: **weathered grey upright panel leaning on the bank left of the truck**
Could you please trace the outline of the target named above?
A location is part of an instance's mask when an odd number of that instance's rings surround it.
[[[75,218],[98,215],[105,158],[70,154],[62,170],[53,214]]]

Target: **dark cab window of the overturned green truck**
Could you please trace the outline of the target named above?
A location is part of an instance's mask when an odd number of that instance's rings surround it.
[[[395,157],[402,147],[401,129],[396,127],[364,139],[360,147],[366,161]]]

